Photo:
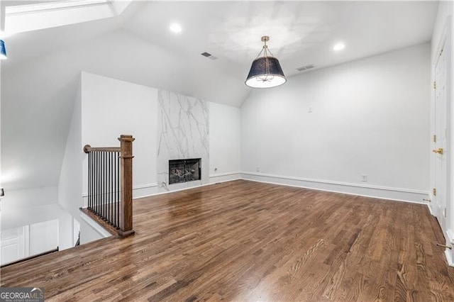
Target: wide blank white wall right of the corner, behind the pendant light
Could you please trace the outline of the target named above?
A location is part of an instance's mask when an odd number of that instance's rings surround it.
[[[253,91],[241,108],[243,177],[423,202],[428,83],[426,43]]]

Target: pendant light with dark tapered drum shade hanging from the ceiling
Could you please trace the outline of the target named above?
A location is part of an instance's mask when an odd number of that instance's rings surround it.
[[[247,86],[253,88],[270,88],[287,82],[279,60],[268,50],[267,41],[269,40],[270,37],[267,35],[262,37],[262,42],[265,45],[263,45],[262,50],[260,50],[258,56],[253,61],[253,65],[250,67],[248,79],[245,82]]]

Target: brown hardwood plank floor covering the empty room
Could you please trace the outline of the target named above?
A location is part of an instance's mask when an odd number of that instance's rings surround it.
[[[454,301],[426,206],[230,181],[134,201],[135,235],[1,269],[46,301]]]

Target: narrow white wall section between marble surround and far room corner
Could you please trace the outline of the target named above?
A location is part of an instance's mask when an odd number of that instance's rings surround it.
[[[240,177],[240,108],[209,103],[210,182]]]

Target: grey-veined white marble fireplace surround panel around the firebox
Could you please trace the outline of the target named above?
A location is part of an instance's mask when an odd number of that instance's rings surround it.
[[[209,106],[206,101],[159,89],[158,192],[209,184]],[[201,179],[169,184],[169,160],[201,159]]]

